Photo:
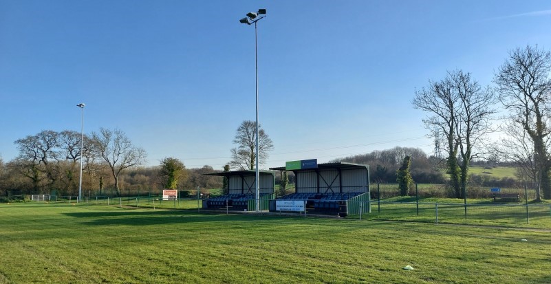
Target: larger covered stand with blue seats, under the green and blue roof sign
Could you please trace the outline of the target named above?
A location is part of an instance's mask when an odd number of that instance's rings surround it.
[[[296,192],[270,202],[270,211],[278,211],[278,200],[291,200],[305,201],[304,210],[321,214],[370,212],[369,165],[338,162],[314,164],[313,168],[270,170],[292,171],[296,177]]]

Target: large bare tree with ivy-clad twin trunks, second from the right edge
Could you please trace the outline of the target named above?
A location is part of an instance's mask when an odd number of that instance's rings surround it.
[[[482,89],[470,73],[448,72],[440,82],[429,80],[429,87],[415,91],[413,107],[429,114],[423,120],[426,129],[444,133],[446,166],[454,195],[466,196],[468,167],[479,153],[476,146],[490,131],[489,120],[495,98],[489,87]],[[433,133],[436,135],[435,133]]]

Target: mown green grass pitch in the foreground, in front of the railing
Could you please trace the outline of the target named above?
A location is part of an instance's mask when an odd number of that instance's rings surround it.
[[[36,203],[0,219],[0,283],[551,282],[544,230]]]

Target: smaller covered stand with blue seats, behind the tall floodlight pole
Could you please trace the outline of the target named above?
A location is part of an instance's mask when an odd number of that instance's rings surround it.
[[[226,194],[203,200],[204,209],[256,210],[256,171],[208,173],[228,178]],[[259,171],[260,210],[268,210],[268,200],[274,198],[274,173]]]

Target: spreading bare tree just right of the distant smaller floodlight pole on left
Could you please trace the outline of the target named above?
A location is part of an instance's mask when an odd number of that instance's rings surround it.
[[[115,188],[120,195],[119,180],[120,172],[126,168],[138,166],[145,163],[145,150],[133,146],[130,139],[120,129],[111,131],[100,129],[100,133],[92,133],[94,151],[107,163],[113,175]]]

